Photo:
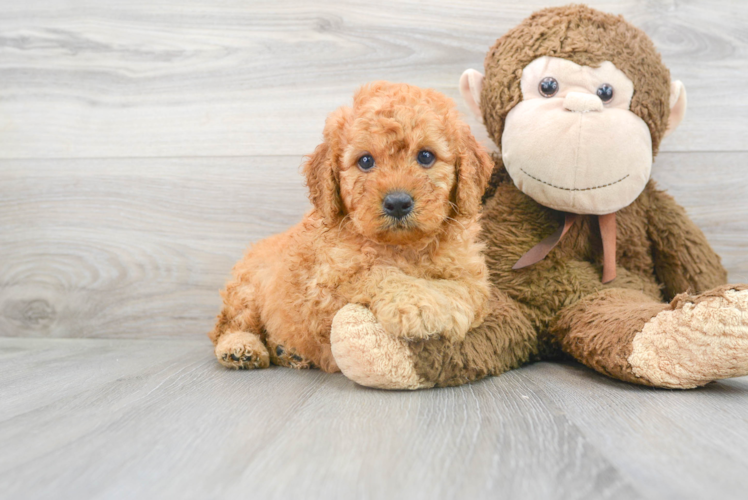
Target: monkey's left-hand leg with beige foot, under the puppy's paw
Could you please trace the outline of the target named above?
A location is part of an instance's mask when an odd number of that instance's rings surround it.
[[[538,339],[517,304],[494,289],[489,310],[462,341],[450,342],[394,337],[367,308],[348,304],[333,320],[332,352],[348,378],[382,389],[460,385],[530,361]]]

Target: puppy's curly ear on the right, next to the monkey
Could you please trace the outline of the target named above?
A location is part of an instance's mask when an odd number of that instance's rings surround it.
[[[458,215],[474,217],[481,207],[481,198],[491,178],[494,163],[486,148],[481,146],[463,123],[460,128],[457,160],[456,202]]]

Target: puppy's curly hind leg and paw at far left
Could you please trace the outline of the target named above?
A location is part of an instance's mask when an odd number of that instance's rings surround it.
[[[250,283],[233,281],[221,293],[223,309],[208,336],[215,345],[218,362],[227,368],[253,369],[270,366],[262,338],[260,315]]]

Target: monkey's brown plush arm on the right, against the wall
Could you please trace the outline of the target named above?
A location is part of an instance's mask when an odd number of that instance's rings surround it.
[[[667,300],[684,292],[700,293],[727,283],[727,271],[704,233],[672,196],[650,181],[648,231],[655,272],[665,287]]]

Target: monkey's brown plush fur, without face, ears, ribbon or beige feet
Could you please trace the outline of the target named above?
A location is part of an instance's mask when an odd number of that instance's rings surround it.
[[[612,61],[634,82],[631,111],[649,126],[656,153],[668,121],[669,72],[641,30],[620,16],[584,6],[537,12],[490,50],[481,108],[499,148],[504,119],[522,98],[521,70],[544,55],[590,66]],[[425,340],[411,346],[416,370],[428,382],[424,386],[465,383],[562,353],[609,376],[651,385],[635,376],[627,361],[633,337],[668,308],[664,301],[726,282],[727,273],[703,233],[650,181],[617,214],[618,277],[612,283],[601,282],[596,216],[583,216],[545,260],[512,270],[564,216],[519,191],[501,157],[494,160],[482,237],[491,282],[500,292],[494,293],[484,323],[464,341]]]

